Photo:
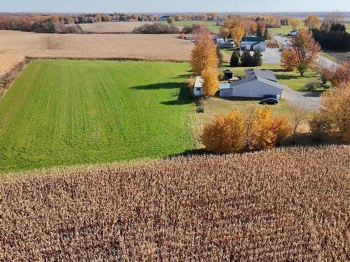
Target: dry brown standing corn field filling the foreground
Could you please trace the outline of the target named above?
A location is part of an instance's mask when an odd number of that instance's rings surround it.
[[[349,261],[350,147],[0,180],[4,261]]]

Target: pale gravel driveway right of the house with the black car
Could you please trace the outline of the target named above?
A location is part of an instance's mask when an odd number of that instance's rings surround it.
[[[282,98],[290,102],[301,102],[304,105],[304,108],[308,111],[318,110],[319,105],[321,104],[321,98],[319,94],[313,92],[298,92],[289,87],[283,85],[284,91]]]

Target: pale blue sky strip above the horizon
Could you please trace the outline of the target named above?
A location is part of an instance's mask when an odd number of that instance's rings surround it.
[[[235,8],[236,7],[236,8]],[[0,0],[0,12],[312,12],[350,11],[350,0]]]

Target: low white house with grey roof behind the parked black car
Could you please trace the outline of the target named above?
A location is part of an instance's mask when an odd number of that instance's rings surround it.
[[[264,98],[275,96],[280,99],[283,87],[279,85],[274,73],[268,70],[246,69],[246,78],[220,86],[222,97]]]

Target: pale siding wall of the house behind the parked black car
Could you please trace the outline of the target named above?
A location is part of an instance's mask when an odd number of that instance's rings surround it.
[[[233,87],[233,96],[237,97],[252,97],[262,98],[266,94],[274,94],[281,97],[282,90],[271,85],[267,85],[263,82],[253,81],[248,82],[245,85]]]

